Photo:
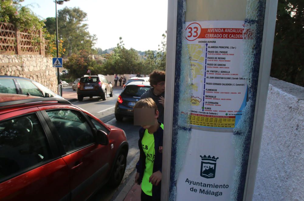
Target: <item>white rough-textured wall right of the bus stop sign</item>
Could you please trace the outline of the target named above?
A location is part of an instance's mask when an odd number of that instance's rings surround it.
[[[304,200],[304,88],[271,79],[253,200]]]

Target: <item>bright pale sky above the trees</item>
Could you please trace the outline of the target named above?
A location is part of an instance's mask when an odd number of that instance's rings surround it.
[[[24,0],[21,3],[41,19],[55,17],[53,0]],[[97,36],[96,48],[116,47],[119,37],[125,48],[139,51],[158,50],[167,30],[167,0],[70,0],[57,5],[79,7],[87,13],[88,31]]]

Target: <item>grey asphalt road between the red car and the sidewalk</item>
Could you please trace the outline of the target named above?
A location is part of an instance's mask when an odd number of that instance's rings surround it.
[[[77,98],[76,92],[72,90],[71,86],[63,87],[62,89],[63,94],[75,93],[74,97]],[[114,107],[120,92],[121,88],[114,88],[113,97],[109,97],[108,95],[105,101],[102,101],[100,97],[86,97],[83,99],[83,101],[78,101],[75,99],[71,100],[73,105],[85,109],[86,111],[96,116],[98,119],[101,119],[103,122],[123,129],[126,132],[127,141],[129,143],[126,172],[122,183],[116,189],[103,186],[94,196],[92,196],[90,201],[114,200],[121,189],[123,189],[126,182],[129,180],[129,176],[134,171],[136,162],[139,159],[138,131],[140,129],[140,126],[134,126],[133,119],[124,118],[122,122],[118,122],[114,116]]]

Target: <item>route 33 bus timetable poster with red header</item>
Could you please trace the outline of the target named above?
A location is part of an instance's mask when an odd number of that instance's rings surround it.
[[[247,101],[242,77],[244,21],[186,22],[185,27],[192,86],[190,124],[231,130]]]

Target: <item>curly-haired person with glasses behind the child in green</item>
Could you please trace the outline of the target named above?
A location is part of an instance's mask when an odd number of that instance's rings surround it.
[[[164,71],[151,72],[149,78],[151,88],[140,97],[140,99],[152,98],[154,100],[159,111],[158,121],[162,123],[164,122],[165,77]]]

